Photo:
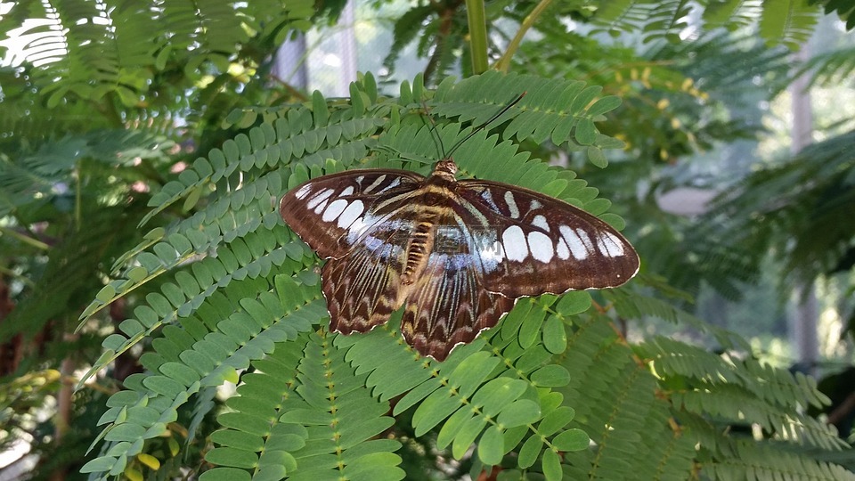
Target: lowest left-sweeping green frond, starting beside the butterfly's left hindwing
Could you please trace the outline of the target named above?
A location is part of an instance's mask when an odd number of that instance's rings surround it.
[[[219,386],[224,379],[236,379],[237,370],[272,353],[276,343],[312,329],[314,320],[324,315],[317,289],[305,289],[281,276],[277,290],[280,300],[268,292],[258,302],[236,306],[228,318],[213,311],[217,316],[213,319],[193,322],[188,318],[193,330],[164,330],[154,352],[141,359],[150,374],[129,376],[125,381],[129,390],[110,397],[110,409],[99,421],[109,423],[102,433],[109,444],[82,472],[122,472],[129,457],[142,452],[143,440],[163,434],[191,395],[203,387]],[[186,335],[206,331],[198,340]]]

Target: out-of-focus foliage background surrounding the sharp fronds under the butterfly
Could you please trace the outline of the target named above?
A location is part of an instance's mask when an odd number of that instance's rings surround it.
[[[311,85],[332,90],[336,70],[323,66],[335,55],[322,40],[345,4],[0,3],[0,467],[81,476],[105,396],[139,370],[141,353],[72,396],[127,306],[74,334],[78,315],[111,263],[141,241],[150,192],[232,137],[228,112],[307,99],[273,76],[284,40],[306,33]],[[670,286],[652,294],[671,292],[669,302],[752,339],[752,355],[787,366],[796,361],[787,319],[803,286],[815,289],[823,357],[811,368],[846,436],[852,408],[838,408],[855,399],[855,3],[790,5],[491,2],[487,51],[500,69],[589,81],[623,98],[598,124],[626,143],[612,168],[549,143],[526,147],[614,201],[643,272]],[[419,70],[428,82],[472,73],[464,2],[355,10],[359,69],[379,72],[383,85]],[[800,61],[794,50],[809,40],[816,54]],[[815,99],[817,142],[793,155],[787,105],[798,77]],[[688,215],[664,208],[686,188],[714,200]],[[171,208],[148,227],[187,215]],[[627,330],[695,335],[652,319]],[[191,466],[202,462],[196,454]],[[443,476],[424,458],[407,462],[419,465],[408,472]]]

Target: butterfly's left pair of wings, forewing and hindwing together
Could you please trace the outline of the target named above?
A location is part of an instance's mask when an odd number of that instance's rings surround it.
[[[404,170],[352,170],[292,189],[280,214],[318,255],[330,329],[367,332],[403,304],[403,240],[412,232],[410,198],[424,180]]]

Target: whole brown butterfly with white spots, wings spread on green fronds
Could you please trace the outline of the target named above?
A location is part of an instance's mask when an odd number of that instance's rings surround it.
[[[282,219],[327,259],[330,330],[367,332],[406,306],[403,338],[444,361],[518,298],[612,288],[638,272],[635,249],[598,217],[457,170],[451,155],[428,177],[349,170],[282,197]]]

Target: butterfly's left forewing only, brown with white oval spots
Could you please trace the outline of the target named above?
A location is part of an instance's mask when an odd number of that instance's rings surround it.
[[[298,185],[279,212],[321,257],[344,257],[365,232],[387,222],[397,203],[425,178],[393,169],[348,170]]]

